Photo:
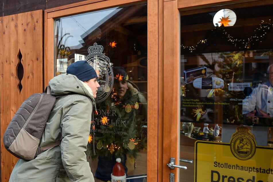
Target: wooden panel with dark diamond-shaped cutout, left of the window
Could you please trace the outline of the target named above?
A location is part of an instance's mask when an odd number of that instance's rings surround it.
[[[43,11],[0,17],[0,32],[1,181],[5,182],[18,158],[5,149],[3,133],[21,103],[43,91]]]

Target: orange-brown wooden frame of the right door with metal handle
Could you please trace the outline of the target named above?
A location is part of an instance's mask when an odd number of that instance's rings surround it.
[[[180,14],[181,9],[192,9],[204,5],[236,2],[238,0],[163,0],[163,173],[162,181],[170,181],[170,173],[179,181],[179,170],[170,169],[166,164],[174,157],[179,164],[180,140]],[[161,68],[161,67],[160,67]],[[160,79],[159,79],[160,80]],[[160,90],[160,89],[159,89]],[[178,122],[179,121],[179,122]]]

